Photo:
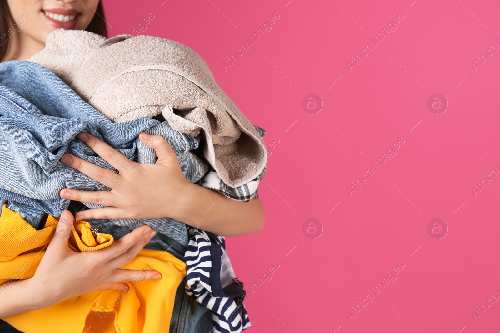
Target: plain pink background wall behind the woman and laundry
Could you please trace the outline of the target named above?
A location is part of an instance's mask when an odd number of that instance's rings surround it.
[[[249,293],[247,332],[498,331],[500,302],[471,315],[500,297],[500,177],[471,190],[500,171],[500,52],[471,66],[500,46],[498,1],[163,1],[105,0],[110,34],[133,33],[153,13],[141,33],[196,50],[272,147],[259,187],[266,225],[227,240],[248,287],[279,265]],[[272,29],[224,71],[275,12]],[[349,71],[346,61],[400,12],[397,29]],[[323,101],[317,114],[301,106],[309,93]],[[427,109],[434,93],[449,103],[442,114]],[[397,155],[349,196],[398,138]],[[302,233],[309,218],[319,238]],[[434,218],[449,228],[442,239],[427,233]],[[349,321],[398,263],[397,279]]]

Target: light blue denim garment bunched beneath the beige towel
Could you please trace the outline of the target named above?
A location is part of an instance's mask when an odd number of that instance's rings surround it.
[[[189,150],[199,138],[173,130],[168,122],[140,118],[124,123],[109,119],[85,103],[48,69],[24,61],[0,64],[0,204],[22,215],[35,228],[44,212],[59,216],[69,205],[62,188],[109,190],[59,159],[71,153],[93,164],[116,171],[76,139],[88,132],[138,163],[154,163],[154,150],[144,146],[141,131],[163,136],[177,154],[186,179],[197,182],[207,170]],[[110,180],[110,183],[112,180]],[[85,204],[88,208],[102,207]],[[167,237],[187,245],[183,223],[169,219],[93,220],[95,228],[115,226],[123,232],[147,224]]]

